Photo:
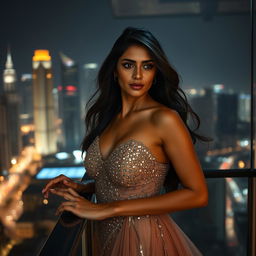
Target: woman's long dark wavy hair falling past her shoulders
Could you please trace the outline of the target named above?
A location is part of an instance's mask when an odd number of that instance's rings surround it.
[[[193,143],[197,139],[208,141],[208,138],[196,133],[200,126],[200,119],[190,107],[185,93],[179,87],[179,75],[170,65],[158,40],[147,30],[128,27],[116,40],[103,62],[97,77],[97,90],[86,105],[88,111],[85,117],[86,132],[81,145],[82,151],[87,150],[95,137],[100,135],[113,117],[121,111],[121,92],[118,82],[114,79],[114,73],[118,59],[131,45],[145,47],[156,65],[155,82],[148,92],[149,95],[155,101],[179,113]],[[188,118],[191,118],[195,124],[193,130],[188,125]],[[173,173],[175,172],[169,171],[168,176]],[[168,176],[166,181],[175,180]]]

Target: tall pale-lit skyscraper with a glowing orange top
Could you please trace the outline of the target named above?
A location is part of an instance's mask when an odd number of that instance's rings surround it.
[[[32,66],[35,147],[38,153],[47,155],[57,151],[53,75],[49,51],[36,50]]]

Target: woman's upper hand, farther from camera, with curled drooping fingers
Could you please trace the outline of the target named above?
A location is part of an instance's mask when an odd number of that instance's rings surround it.
[[[50,180],[46,186],[43,188],[42,193],[45,198],[49,197],[49,192],[51,192],[51,189],[65,189],[65,188],[72,188],[77,193],[80,193],[83,191],[85,185],[79,184],[74,182],[72,179],[68,178],[67,176],[61,174],[57,176],[56,178]]]

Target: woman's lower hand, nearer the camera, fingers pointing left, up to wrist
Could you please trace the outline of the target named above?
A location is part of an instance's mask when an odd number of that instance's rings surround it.
[[[51,192],[67,200],[58,207],[56,215],[61,214],[63,211],[69,211],[78,217],[91,220],[106,218],[106,205],[92,203],[80,196],[72,188],[51,189]]]

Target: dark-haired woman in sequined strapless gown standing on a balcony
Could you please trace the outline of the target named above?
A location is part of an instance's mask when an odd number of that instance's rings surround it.
[[[205,138],[186,123],[189,113],[199,119],[156,38],[125,29],[99,71],[98,86],[82,144],[94,182],[59,176],[43,193],[67,200],[58,214],[70,211],[93,220],[94,255],[201,255],[168,213],[207,204],[193,148],[196,138]],[[181,189],[160,193],[177,178]],[[81,192],[95,192],[97,203]]]

